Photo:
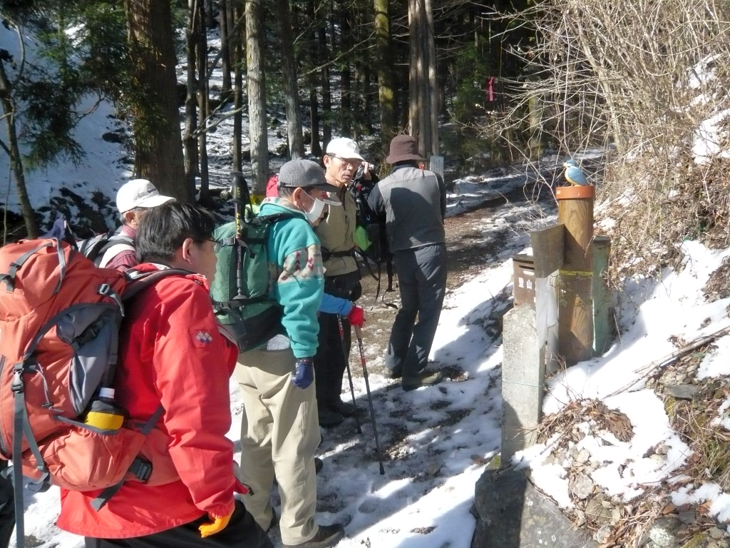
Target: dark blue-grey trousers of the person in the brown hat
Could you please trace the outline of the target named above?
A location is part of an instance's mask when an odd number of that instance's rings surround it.
[[[446,245],[393,252],[401,308],[393,322],[385,367],[415,377],[429,362],[446,291]],[[418,316],[418,323],[415,319]]]

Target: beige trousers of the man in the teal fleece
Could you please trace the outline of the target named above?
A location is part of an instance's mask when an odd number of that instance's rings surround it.
[[[253,490],[244,501],[258,525],[268,529],[276,476],[284,544],[304,543],[318,532],[315,450],[320,430],[315,384],[304,390],[292,384],[294,362],[291,349],[252,350],[239,354],[236,367],[244,411],[241,479]]]

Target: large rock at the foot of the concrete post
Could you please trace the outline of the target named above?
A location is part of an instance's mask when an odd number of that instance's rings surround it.
[[[597,547],[522,471],[485,471],[477,481],[475,509],[479,519],[471,548]]]

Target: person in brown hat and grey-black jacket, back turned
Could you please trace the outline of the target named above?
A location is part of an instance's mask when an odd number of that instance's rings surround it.
[[[426,371],[426,365],[446,290],[446,189],[439,175],[420,169],[423,158],[410,135],[394,137],[385,160],[393,171],[374,186],[368,204],[385,216],[401,291],[385,354],[386,376],[402,377],[403,389],[412,390],[443,378],[440,371]]]

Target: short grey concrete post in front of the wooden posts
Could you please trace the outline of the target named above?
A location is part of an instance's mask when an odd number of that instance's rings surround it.
[[[502,332],[502,465],[535,443],[545,381],[545,345],[531,305],[504,315]]]

